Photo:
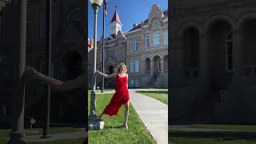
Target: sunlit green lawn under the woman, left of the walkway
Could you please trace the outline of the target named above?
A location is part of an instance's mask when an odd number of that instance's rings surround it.
[[[90,92],[89,92],[90,93]],[[105,106],[110,102],[113,94],[98,94],[96,96],[96,114],[101,114]],[[90,95],[88,98],[90,108]],[[89,114],[89,112],[88,112]],[[138,114],[130,103],[130,114],[128,118],[129,129],[122,128],[124,120],[124,106],[118,112],[118,116],[104,115],[105,126],[103,130],[90,130],[89,143],[156,143],[154,138],[146,130]]]

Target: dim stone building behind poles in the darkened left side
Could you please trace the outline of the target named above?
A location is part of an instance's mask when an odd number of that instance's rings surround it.
[[[0,12],[0,105],[6,106],[11,115],[13,52],[16,49],[12,39],[15,36],[14,1]],[[17,27],[17,26],[16,26]],[[62,81],[82,74],[85,57],[84,2],[52,1],[52,62],[51,76]],[[46,1],[27,2],[26,65],[45,73],[46,49]],[[26,83],[26,116],[44,119],[45,85],[38,82]],[[85,103],[81,101],[82,90],[51,93],[51,120],[65,121],[84,115]],[[69,117],[66,115],[69,114]]]

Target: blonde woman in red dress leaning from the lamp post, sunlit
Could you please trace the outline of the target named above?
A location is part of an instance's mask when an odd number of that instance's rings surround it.
[[[100,74],[104,76],[104,78],[113,78],[115,77],[115,93],[110,100],[110,103],[106,106],[105,110],[103,110],[102,114],[98,116],[99,119],[102,119],[104,114],[118,115],[118,110],[122,105],[125,105],[125,122],[124,127],[128,129],[128,115],[129,115],[129,91],[128,91],[128,74],[126,74],[126,65],[121,63],[117,67],[117,73],[113,73],[110,75],[102,74],[100,71],[96,71],[96,74]]]

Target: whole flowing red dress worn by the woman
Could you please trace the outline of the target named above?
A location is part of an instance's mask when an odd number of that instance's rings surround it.
[[[119,108],[129,101],[129,91],[127,87],[127,76],[120,77],[118,74],[115,78],[115,93],[110,103],[103,110],[102,114],[118,115]]]

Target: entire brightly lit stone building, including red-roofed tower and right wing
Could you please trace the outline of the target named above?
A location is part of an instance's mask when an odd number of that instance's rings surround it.
[[[168,82],[168,18],[167,11],[152,6],[149,18],[122,32],[122,22],[115,11],[110,22],[110,38],[106,38],[106,73],[113,73],[120,62],[126,63],[129,87],[167,87]],[[98,70],[102,70],[102,40],[98,43]],[[102,78],[98,78],[101,85]],[[114,86],[114,78],[106,79]]]

